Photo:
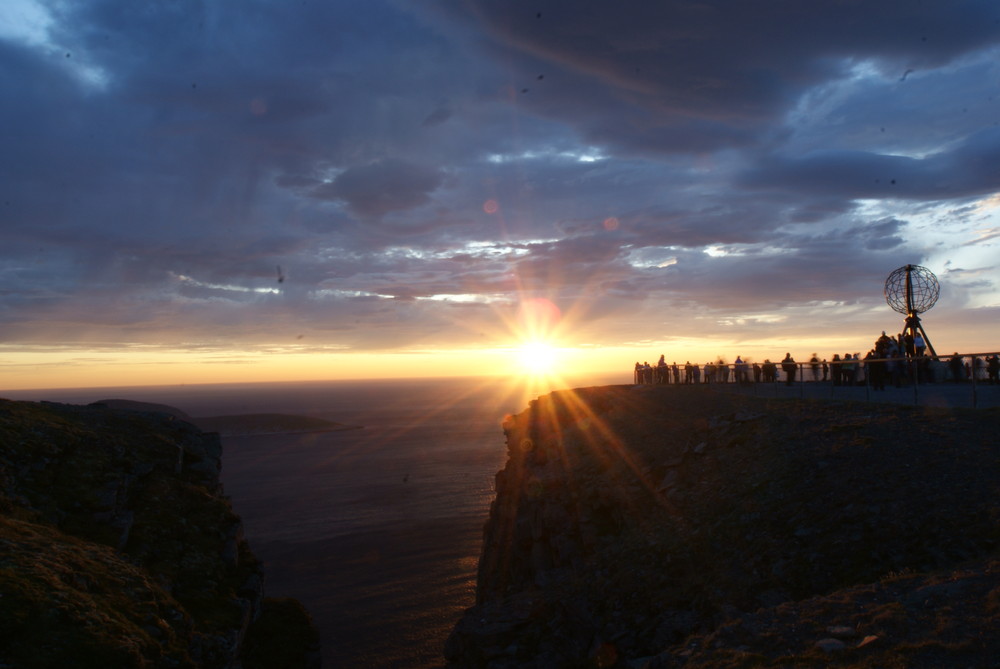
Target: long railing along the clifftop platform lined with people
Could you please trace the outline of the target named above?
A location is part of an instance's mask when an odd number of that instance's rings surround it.
[[[992,356],[998,356],[998,362],[993,365],[988,362]],[[959,362],[954,363],[954,360]],[[969,362],[966,363],[966,360]],[[777,395],[778,388],[792,386],[798,390],[800,397],[804,397],[807,390],[810,396],[815,397],[818,389],[828,388],[827,395],[831,399],[855,399],[863,389],[867,401],[880,399],[873,398],[872,393],[877,394],[881,392],[879,388],[891,386],[894,389],[912,389],[915,405],[921,404],[922,388],[968,387],[973,408],[978,408],[980,404],[981,387],[984,385],[995,386],[996,396],[1000,397],[1000,352],[834,360],[818,363],[815,369],[813,364],[796,362],[791,381],[782,369],[781,361],[766,366],[768,371],[773,366],[773,375],[766,374],[765,365],[760,363],[756,369],[753,363],[712,363],[691,365],[689,374],[685,365],[677,365],[676,370],[673,365],[667,365],[665,370],[652,367],[648,373],[637,368],[634,381],[641,385],[714,385],[719,389],[755,395],[768,392]],[[823,369],[824,364],[826,370]],[[883,365],[884,368],[879,370],[874,365]],[[850,375],[849,378],[845,378],[845,373]],[[884,376],[880,378],[881,374]],[[993,395],[990,398],[994,399]]]

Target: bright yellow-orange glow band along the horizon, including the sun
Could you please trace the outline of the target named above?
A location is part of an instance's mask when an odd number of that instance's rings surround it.
[[[756,340],[673,338],[620,346],[573,342],[580,320],[572,309],[559,310],[536,300],[520,311],[498,312],[500,323],[486,333],[484,345],[384,352],[343,349],[288,350],[210,349],[153,345],[44,346],[0,345],[0,396],[4,391],[46,388],[99,388],[216,383],[348,381],[354,379],[506,377],[529,384],[540,393],[555,387],[630,383],[636,362],[654,364],[690,360],[704,364],[722,358],[732,362],[780,359],[786,351],[808,360],[813,351],[829,359],[833,353],[864,354],[867,333],[842,331],[822,337]],[[458,324],[461,325],[461,324]],[[988,352],[995,348],[989,332],[966,331],[948,336],[934,331],[941,354]],[[963,338],[964,337],[964,338]]]

